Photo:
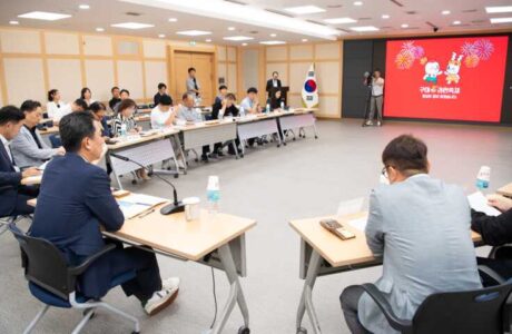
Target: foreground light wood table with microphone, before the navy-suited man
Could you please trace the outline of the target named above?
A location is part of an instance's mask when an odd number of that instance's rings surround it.
[[[27,203],[37,206],[37,199]],[[244,326],[238,333],[246,333],[249,328],[249,312],[238,276],[247,277],[245,234],[256,226],[256,220],[224,213],[210,214],[201,209],[199,219],[189,222],[185,213],[161,215],[160,208],[166,204],[126,219],[117,232],[102,230],[102,234],[144,250],[225,272],[229,296],[208,333],[223,332],[236,304],[244,318]]]

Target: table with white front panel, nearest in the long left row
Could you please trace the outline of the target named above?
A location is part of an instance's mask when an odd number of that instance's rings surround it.
[[[179,167],[176,158],[177,155],[173,148],[171,138],[176,140],[178,147],[181,147],[178,134],[179,130],[174,128],[151,130],[147,131],[146,136],[127,136],[121,138],[118,143],[107,145],[108,150],[106,159],[112,168],[112,174],[119,189],[122,189],[119,176],[130,174],[141,167],[132,161],[126,161],[117,158],[112,156],[112,154],[132,159],[142,166],[151,166],[166,160],[173,160],[176,166],[176,170],[158,170],[155,173],[169,173],[177,177],[179,174]],[[180,151],[180,156],[184,157],[183,151]]]

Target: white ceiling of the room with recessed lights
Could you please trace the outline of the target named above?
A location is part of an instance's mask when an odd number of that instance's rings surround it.
[[[218,17],[194,14],[184,9],[178,11],[155,7],[159,6],[159,1],[165,2],[165,0],[138,0],[144,4],[127,1],[131,0],[0,0],[0,26],[9,26],[9,21],[17,20],[19,21],[18,27],[86,32],[96,32],[96,28],[104,28],[104,33],[110,35],[157,38],[158,35],[164,33],[166,39],[195,40],[198,42],[211,39],[214,43],[226,45],[240,45],[240,41],[223,40],[223,37],[239,35],[254,38],[254,40],[247,41],[248,45],[255,45],[263,40],[283,40],[292,43],[301,42],[303,39],[308,41],[324,40],[317,36],[312,36],[308,31],[291,32],[266,23],[264,23],[266,27],[262,27],[262,24],[255,26],[253,22],[248,23],[239,19],[234,22]],[[306,4],[314,4],[326,10],[322,13],[292,16],[293,20],[304,20],[308,21],[308,23],[326,24],[323,22],[324,19],[345,17],[357,20],[356,23],[327,24],[331,28],[341,29],[336,30],[341,38],[364,36],[365,33],[371,33],[372,36],[420,35],[432,32],[434,27],[437,27],[441,32],[481,29],[508,29],[512,31],[512,23],[491,24],[490,22],[490,18],[512,17],[512,12],[495,14],[485,12],[486,6],[510,6],[510,0],[362,0],[362,6],[355,6],[354,0],[232,0],[228,2],[230,4],[239,2],[245,4],[244,8],[256,8],[274,12],[285,12],[284,8]],[[90,8],[87,10],[79,9],[79,4],[83,3],[89,4]],[[37,10],[62,12],[72,17],[59,21],[18,18],[18,14]],[[450,14],[442,14],[443,10],[450,10]],[[137,16],[128,13],[136,13]],[[388,14],[390,18],[383,19],[382,14]],[[176,18],[177,22],[169,22],[169,18]],[[286,19],[289,19],[289,17]],[[461,23],[453,24],[454,21],[460,21]],[[112,23],[120,22],[151,23],[155,27],[141,30],[110,27]],[[401,28],[402,24],[408,24],[408,28]],[[374,26],[380,30],[376,32],[354,32],[349,30],[351,27],[358,26]],[[235,27],[235,30],[229,31],[228,27]],[[204,37],[176,35],[176,31],[189,29],[207,30],[213,33]],[[270,37],[272,33],[276,36]]]

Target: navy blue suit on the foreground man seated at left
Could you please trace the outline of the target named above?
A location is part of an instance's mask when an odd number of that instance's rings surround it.
[[[98,166],[67,153],[46,167],[30,234],[55,244],[72,265],[100,250],[108,232],[121,228],[125,217],[111,195],[110,179]],[[122,245],[95,262],[80,277],[79,291],[89,297],[104,296],[114,277],[127,271],[137,277],[124,284],[127,295],[148,299],[161,288],[155,254]]]

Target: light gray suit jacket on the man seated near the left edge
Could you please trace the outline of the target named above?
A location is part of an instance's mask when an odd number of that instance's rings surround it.
[[[14,161],[18,167],[37,167],[43,160],[51,159],[57,154],[57,149],[48,147],[42,140],[39,130],[36,130],[36,136],[39,138],[42,148],[39,148],[29,129],[21,127],[18,136],[12,139],[10,145]]]

